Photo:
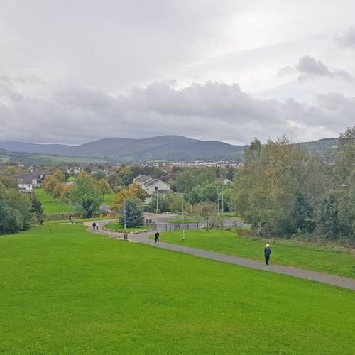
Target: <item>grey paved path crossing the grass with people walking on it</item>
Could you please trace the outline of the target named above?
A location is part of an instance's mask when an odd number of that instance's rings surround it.
[[[88,231],[92,231],[92,228],[88,228]],[[99,233],[107,234],[112,238],[123,239],[123,234],[112,233],[110,231],[103,231],[100,229]],[[187,253],[194,256],[200,256],[201,258],[208,258],[217,261],[223,261],[225,263],[232,263],[239,266],[245,266],[247,268],[255,268],[258,270],[271,271],[273,273],[282,273],[284,275],[294,276],[296,278],[304,278],[306,280],[316,281],[318,283],[327,283],[329,285],[338,286],[341,288],[349,288],[355,290],[355,279],[344,278],[342,276],[329,275],[327,273],[318,273],[317,271],[309,271],[300,268],[292,268],[290,266],[268,265],[260,261],[255,261],[246,258],[239,258],[238,256],[229,256],[221,253],[214,253],[212,251],[205,251],[202,249],[190,248],[188,246],[181,246],[178,244],[159,243],[155,244],[153,239],[149,239],[152,232],[129,234],[129,241],[148,244],[156,246],[162,249],[168,249],[171,251],[178,251],[180,253]]]

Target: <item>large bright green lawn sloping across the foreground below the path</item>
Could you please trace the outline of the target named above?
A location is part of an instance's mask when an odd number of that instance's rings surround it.
[[[62,224],[0,260],[1,354],[354,354],[351,290]]]

